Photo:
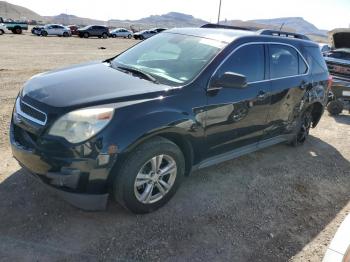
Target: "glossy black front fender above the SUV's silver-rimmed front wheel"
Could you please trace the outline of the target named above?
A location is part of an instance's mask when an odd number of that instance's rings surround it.
[[[172,97],[167,97],[117,109],[116,121],[108,130],[113,134],[108,136],[113,137],[113,141],[107,144],[115,144],[117,154],[125,155],[153,136],[174,134],[197,148],[198,152],[194,153],[200,156],[205,136],[204,119],[198,115],[201,111],[188,106],[185,100],[178,105],[178,99],[172,103]]]

